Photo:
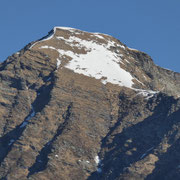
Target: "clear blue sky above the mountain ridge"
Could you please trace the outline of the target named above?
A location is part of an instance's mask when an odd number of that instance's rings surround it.
[[[110,34],[180,72],[180,0],[0,0],[0,61],[54,26]]]

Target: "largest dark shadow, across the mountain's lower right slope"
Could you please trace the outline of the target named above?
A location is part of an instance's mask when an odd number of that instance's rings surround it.
[[[123,102],[127,103],[126,100],[123,100]],[[121,125],[123,118],[128,117],[127,111],[129,108],[124,108],[123,112],[119,111],[117,123],[102,140],[101,148],[109,149],[105,154],[103,152],[99,154],[100,158],[103,157],[100,164],[102,173],[92,173],[88,178],[89,180],[118,179],[127,167],[153,152],[153,149],[159,145],[164,135],[179,121],[177,115],[175,119],[173,118],[175,113],[168,116],[172,104],[176,104],[173,97],[160,94],[156,102],[158,105],[152,110],[153,114],[150,117],[124,129],[122,133],[113,134],[114,130]],[[147,107],[149,103],[152,102],[149,101]],[[179,112],[176,112],[176,114],[180,117]],[[111,141],[109,141],[110,139]]]

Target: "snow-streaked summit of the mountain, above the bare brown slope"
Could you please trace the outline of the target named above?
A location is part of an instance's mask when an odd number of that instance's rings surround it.
[[[109,35],[70,27],[54,27],[47,36],[32,44],[30,49],[52,55],[51,58],[57,61],[57,69],[67,68],[100,80],[103,84],[111,83],[149,93],[164,88],[162,82],[159,85],[161,88],[157,85],[152,87],[154,79],[142,67],[152,66],[154,72],[159,71],[148,55],[128,48]]]

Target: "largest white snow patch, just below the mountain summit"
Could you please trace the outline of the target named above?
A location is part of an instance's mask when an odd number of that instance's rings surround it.
[[[63,39],[63,38],[61,38]],[[72,51],[56,49],[52,46],[41,46],[40,48],[49,48],[59,52],[59,56],[67,55],[72,60],[65,66],[75,73],[85,76],[103,79],[103,83],[108,82],[132,88],[133,77],[131,74],[120,67],[122,59],[114,52],[110,51],[110,46],[115,46],[115,42],[109,41],[107,44],[97,44],[96,42],[82,40],[78,37],[64,39],[66,43],[72,46],[84,48],[86,54],[76,54]]]

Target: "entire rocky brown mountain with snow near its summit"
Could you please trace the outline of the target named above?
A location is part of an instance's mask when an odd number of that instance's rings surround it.
[[[55,27],[0,82],[1,180],[180,179],[180,73],[144,52]]]

